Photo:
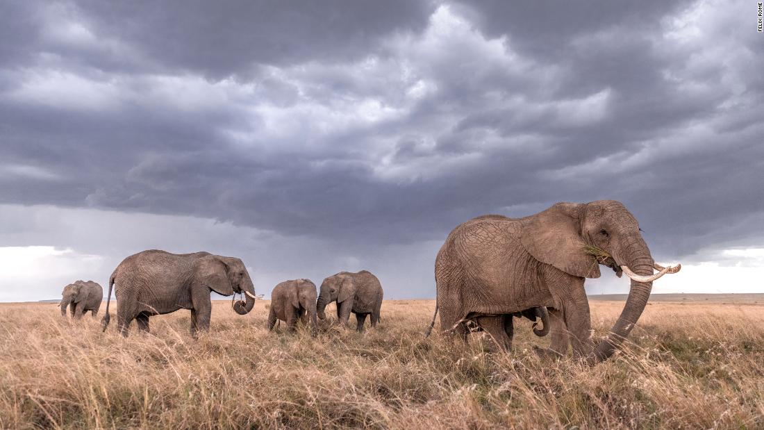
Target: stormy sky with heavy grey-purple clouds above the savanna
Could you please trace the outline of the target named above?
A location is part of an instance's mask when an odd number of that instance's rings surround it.
[[[0,0],[0,300],[151,248],[434,297],[455,225],[597,199],[654,292],[764,292],[762,70],[748,1]]]

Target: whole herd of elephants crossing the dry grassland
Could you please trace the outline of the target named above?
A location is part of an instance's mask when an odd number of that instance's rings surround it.
[[[466,221],[448,234],[435,258],[435,315],[426,335],[440,312],[444,334],[466,341],[471,331],[485,331],[500,348],[509,349],[513,318],[525,317],[542,322],[542,328],[534,324],[536,335],[551,333],[550,348],[540,354],[565,355],[572,348],[575,357],[590,363],[607,359],[642,314],[652,281],[681,268],[655,263],[640,231],[636,218],[613,200],[562,202],[524,218],[484,215]],[[600,266],[618,277],[626,274],[630,293],[613,328],[595,342],[584,280],[599,277]],[[112,288],[122,335],[133,320],[139,330],[148,331],[149,317],[179,309],[191,311],[196,335],[209,331],[212,291],[243,295],[232,305],[240,315],[250,312],[257,298],[238,258],[143,251],[125,258],[109,277],[104,330]],[[63,290],[61,314],[70,306],[76,318],[88,311],[95,315],[102,297],[97,283],[77,281]],[[367,317],[372,327],[380,321],[382,298],[377,276],[367,270],[329,276],[319,291],[310,280],[287,280],[271,294],[267,328],[281,320],[291,331],[300,320],[315,333],[317,318],[324,319],[325,307],[336,302],[339,324],[346,327],[354,313],[357,330],[363,331]]]

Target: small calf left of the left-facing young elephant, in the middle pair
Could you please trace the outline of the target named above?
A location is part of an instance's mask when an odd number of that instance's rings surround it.
[[[273,330],[276,320],[286,322],[290,331],[295,330],[297,319],[306,322],[310,318],[310,329],[315,334],[316,322],[316,284],[311,280],[288,280],[279,283],[270,293],[270,311],[268,312],[268,330]]]

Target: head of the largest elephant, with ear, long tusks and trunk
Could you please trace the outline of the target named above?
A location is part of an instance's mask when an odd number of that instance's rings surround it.
[[[588,360],[604,360],[616,350],[642,315],[652,281],[678,267],[656,265],[639,233],[639,224],[620,203],[601,200],[590,203],[558,203],[537,215],[523,218],[520,241],[529,254],[573,276],[597,278],[599,264],[620,270],[631,278],[630,293],[623,312],[610,333]],[[591,249],[598,250],[592,253]],[[653,275],[653,268],[661,270]],[[588,307],[581,303],[580,306]],[[578,312],[574,309],[574,312]],[[586,312],[586,309],[581,309]]]

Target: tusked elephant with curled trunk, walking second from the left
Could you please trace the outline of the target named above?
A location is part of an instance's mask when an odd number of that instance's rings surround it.
[[[235,257],[222,257],[209,252],[170,254],[150,250],[125,258],[108,281],[108,296],[119,302],[117,325],[122,335],[128,335],[130,323],[135,320],[138,329],[148,331],[148,318],[175,312],[191,311],[191,334],[209,331],[212,311],[210,293],[231,296],[248,292],[252,295],[239,300],[234,310],[239,315],[250,312],[254,306],[254,285],[244,263]],[[108,299],[106,315],[101,322],[108,326]]]

